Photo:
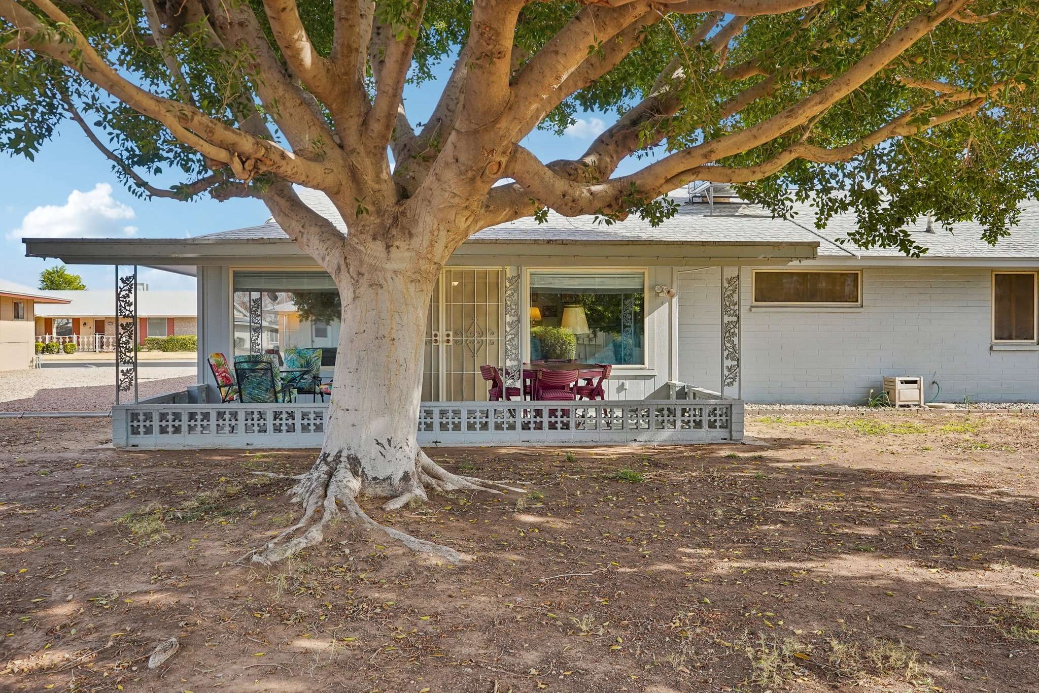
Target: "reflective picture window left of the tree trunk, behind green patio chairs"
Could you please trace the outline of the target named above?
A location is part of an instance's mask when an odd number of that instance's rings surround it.
[[[331,365],[328,355],[339,344],[341,313],[339,291],[325,272],[234,274],[236,354],[250,353],[256,332],[261,352],[317,347],[322,362]]]

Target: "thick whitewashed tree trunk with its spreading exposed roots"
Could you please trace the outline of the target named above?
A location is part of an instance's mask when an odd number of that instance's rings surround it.
[[[252,560],[270,563],[320,542],[325,524],[342,505],[363,524],[414,550],[457,562],[459,555],[447,547],[378,525],[355,500],[359,495],[390,498],[383,508],[394,509],[424,500],[426,488],[494,494],[501,491],[487,484],[509,488],[447,472],[416,438],[427,308],[441,265],[428,254],[381,242],[354,246],[344,258],[322,259],[322,264],[336,279],[343,305],[324,445],[291,491],[303,506],[302,517]]]

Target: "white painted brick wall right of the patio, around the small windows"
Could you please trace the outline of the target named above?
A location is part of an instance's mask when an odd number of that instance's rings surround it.
[[[681,274],[678,379],[717,390],[719,270]],[[748,402],[861,404],[884,375],[923,376],[940,399],[1039,401],[1039,352],[992,351],[991,270],[867,267],[855,311],[749,309],[740,283],[743,397]]]

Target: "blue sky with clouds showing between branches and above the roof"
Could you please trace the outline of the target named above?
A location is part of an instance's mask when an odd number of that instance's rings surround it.
[[[449,66],[442,65],[442,75]],[[405,92],[412,124],[429,116],[438,95],[438,81]],[[584,113],[565,135],[535,131],[523,143],[543,161],[577,157],[613,119],[611,114]],[[634,164],[622,166],[620,172],[632,167]],[[170,185],[176,181],[166,178],[152,182]],[[0,159],[0,190],[4,191],[0,198],[0,252],[7,258],[0,278],[30,287],[37,286],[43,269],[60,263],[26,258],[20,240],[23,236],[183,238],[262,223],[269,217],[263,203],[256,199],[138,199],[123,187],[110,162],[71,122],[45,145],[35,161]],[[81,274],[89,289],[112,286],[111,267],[77,265],[70,270]],[[157,270],[142,272],[142,281],[154,290],[193,288],[189,277]]]

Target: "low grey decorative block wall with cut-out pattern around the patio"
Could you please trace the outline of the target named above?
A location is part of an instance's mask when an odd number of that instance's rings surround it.
[[[181,397],[181,395],[185,395]],[[179,404],[112,408],[117,448],[319,448],[328,405]],[[610,400],[581,402],[423,402],[419,443],[424,446],[612,445],[707,443],[743,437],[743,402],[718,400]]]

